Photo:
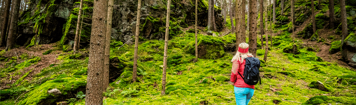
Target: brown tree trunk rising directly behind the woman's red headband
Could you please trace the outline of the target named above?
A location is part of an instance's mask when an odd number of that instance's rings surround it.
[[[241,0],[235,0],[235,37],[236,37],[236,52],[239,48],[239,44],[241,43]]]

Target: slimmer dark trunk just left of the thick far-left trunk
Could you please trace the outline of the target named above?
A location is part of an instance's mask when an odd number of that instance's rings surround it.
[[[7,24],[9,21],[9,12],[10,12],[10,4],[11,0],[6,0],[5,6],[5,13],[4,13],[4,21],[2,21],[2,29],[1,29],[1,39],[0,39],[0,47],[6,45],[6,31],[7,31]]]

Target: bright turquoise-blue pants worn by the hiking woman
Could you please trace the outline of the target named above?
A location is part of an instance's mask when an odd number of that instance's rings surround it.
[[[236,105],[247,105],[254,91],[255,90],[251,88],[239,88],[234,86]]]

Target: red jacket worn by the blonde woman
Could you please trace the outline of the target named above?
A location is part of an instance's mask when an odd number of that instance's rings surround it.
[[[232,69],[231,71],[239,71],[242,76],[244,76],[244,69],[245,69],[245,62],[246,60],[244,59],[242,62],[234,60],[232,62]],[[237,77],[237,78],[236,78]],[[237,72],[231,72],[231,79],[236,79],[234,86],[235,87],[240,87],[240,88],[252,88],[255,89],[254,85],[248,85],[244,82],[244,79],[239,75]],[[234,81],[234,80],[232,80]]]

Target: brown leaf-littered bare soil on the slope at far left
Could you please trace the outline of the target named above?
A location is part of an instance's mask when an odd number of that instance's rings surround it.
[[[0,48],[0,50],[4,50],[4,49],[5,49],[5,47]],[[46,52],[51,49],[53,49],[55,51],[53,51],[47,55],[42,54],[43,52]],[[8,86],[8,85],[15,83],[19,78],[21,78],[24,74],[26,74],[30,70],[32,70],[32,71],[24,78],[24,80],[32,81],[33,75],[40,73],[43,68],[46,68],[51,64],[59,64],[60,60],[58,60],[57,57],[59,56],[59,54],[61,54],[61,51],[57,51],[56,49],[57,49],[56,43],[51,43],[48,45],[35,45],[35,46],[29,47],[29,48],[18,47],[18,48],[11,49],[10,51],[7,51],[4,54],[2,54],[2,56],[7,57],[7,58],[17,56],[18,63],[24,62],[24,60],[19,58],[19,56],[21,56],[24,53],[27,53],[29,57],[32,57],[32,56],[41,57],[41,61],[39,61],[35,65],[31,65],[27,68],[24,68],[23,70],[18,70],[18,72],[21,72],[20,75],[17,75],[14,77],[10,76],[10,77],[1,78],[0,90],[10,88],[10,86]],[[0,68],[5,68],[5,66],[4,66],[5,63],[6,62],[0,62]],[[12,74],[14,74],[14,73],[15,72],[12,72]],[[10,78],[12,78],[12,80],[10,80]]]

